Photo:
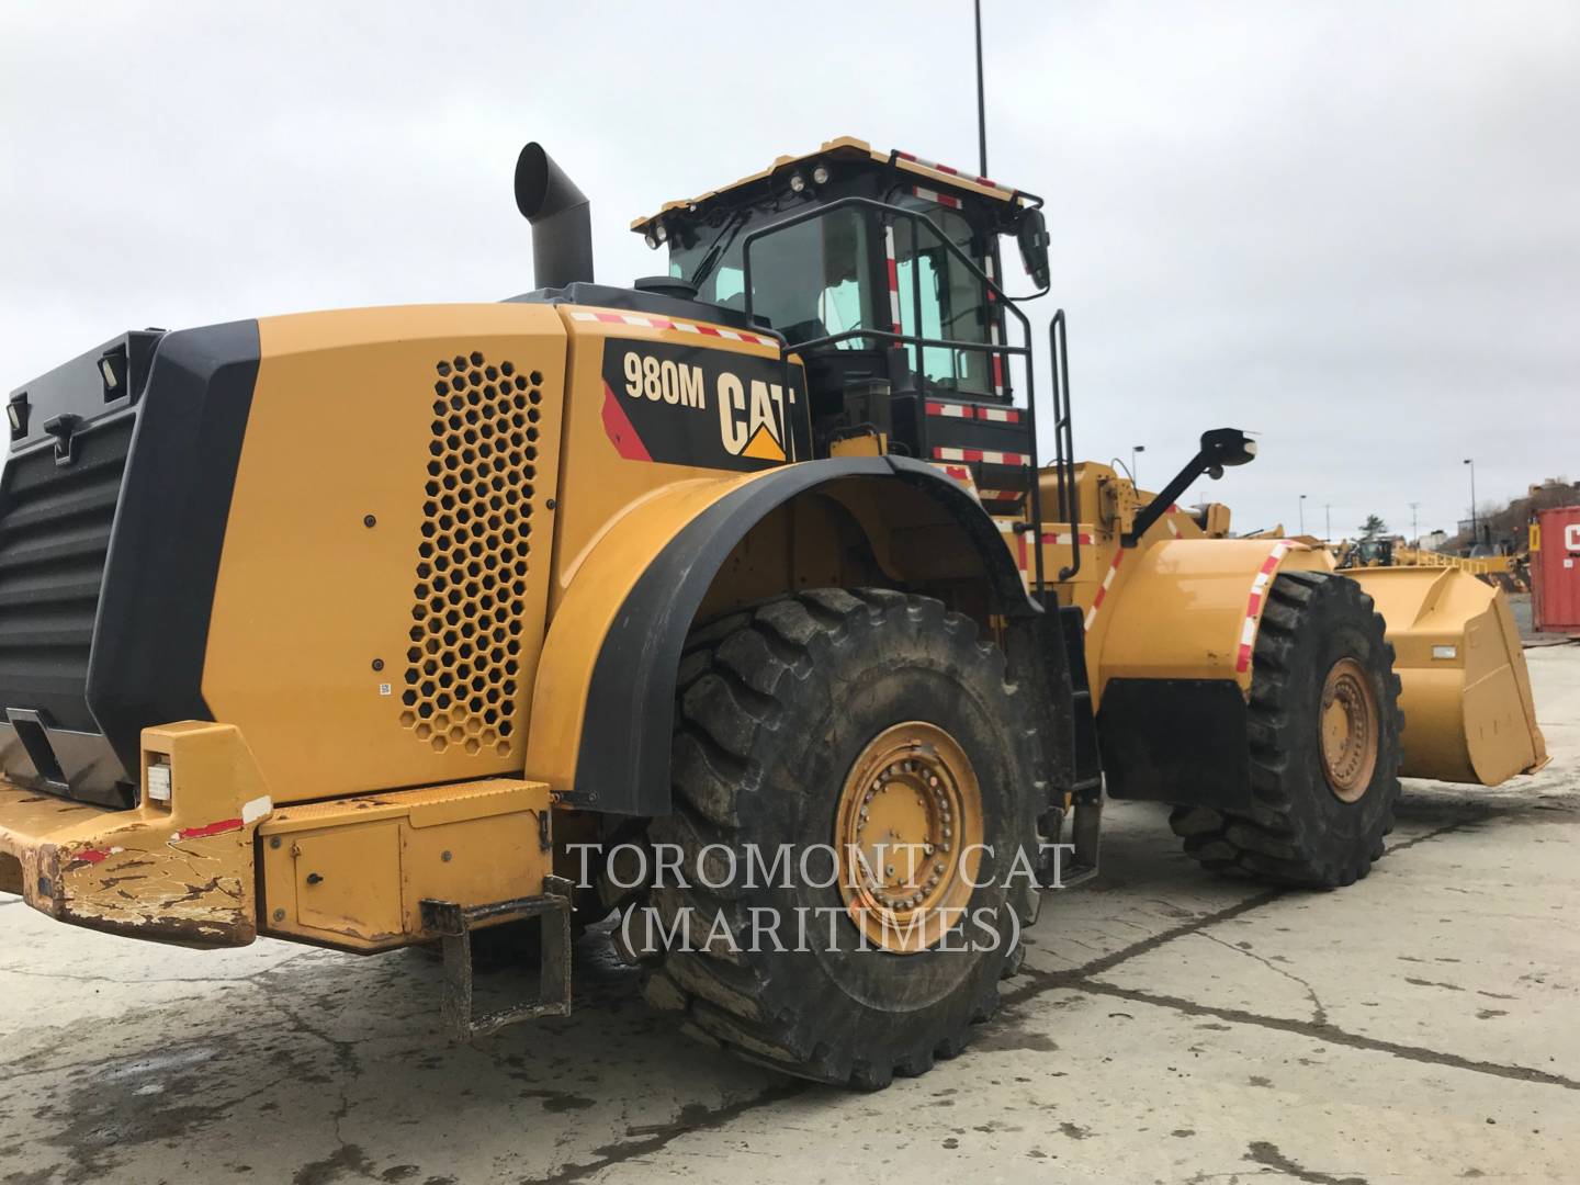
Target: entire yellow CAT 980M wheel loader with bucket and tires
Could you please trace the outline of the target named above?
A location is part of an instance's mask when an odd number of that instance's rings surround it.
[[[566,1011],[604,921],[692,1032],[878,1087],[994,1011],[1104,790],[1326,888],[1401,769],[1544,760],[1495,591],[1180,510],[1234,430],[1157,495],[1074,463],[1063,316],[1041,408],[999,280],[1013,237],[1049,286],[1033,194],[837,139],[638,220],[667,275],[613,288],[536,144],[515,182],[525,295],[137,330],[9,395],[0,890],[431,945],[468,1038]],[[483,1014],[501,927],[539,992]]]

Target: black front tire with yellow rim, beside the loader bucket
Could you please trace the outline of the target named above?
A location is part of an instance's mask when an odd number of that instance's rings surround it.
[[[1382,618],[1354,580],[1285,572],[1256,637],[1248,811],[1169,817],[1206,867],[1340,888],[1371,871],[1398,799],[1400,681]]]

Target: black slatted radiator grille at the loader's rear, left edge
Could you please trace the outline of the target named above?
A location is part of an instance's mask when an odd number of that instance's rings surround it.
[[[136,419],[85,425],[71,465],[46,446],[6,458],[0,480],[0,709],[36,708],[98,732],[85,690],[93,621]]]

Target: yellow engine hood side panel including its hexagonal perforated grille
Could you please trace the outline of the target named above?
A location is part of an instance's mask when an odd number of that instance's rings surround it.
[[[559,313],[365,308],[258,330],[202,675],[215,719],[242,728],[276,804],[518,773],[551,580]],[[434,675],[463,670],[482,687],[441,702]]]

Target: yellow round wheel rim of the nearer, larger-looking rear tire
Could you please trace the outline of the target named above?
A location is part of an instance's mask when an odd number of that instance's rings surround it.
[[[981,839],[981,787],[965,750],[934,724],[885,728],[839,793],[834,848],[852,921],[886,951],[935,945],[972,899]]]

